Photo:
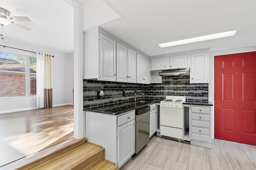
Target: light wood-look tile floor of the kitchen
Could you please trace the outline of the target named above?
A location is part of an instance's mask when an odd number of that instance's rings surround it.
[[[256,170],[256,146],[212,140],[212,149],[153,136],[121,170]]]

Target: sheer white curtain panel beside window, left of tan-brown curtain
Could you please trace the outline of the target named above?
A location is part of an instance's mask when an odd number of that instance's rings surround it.
[[[44,53],[36,53],[36,106],[44,108]]]

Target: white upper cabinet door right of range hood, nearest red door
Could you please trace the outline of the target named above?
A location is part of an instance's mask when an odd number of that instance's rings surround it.
[[[208,83],[208,53],[191,55],[190,83]]]

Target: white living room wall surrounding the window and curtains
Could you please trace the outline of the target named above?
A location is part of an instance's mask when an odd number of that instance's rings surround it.
[[[65,54],[24,42],[1,40],[1,45],[54,55],[52,58],[53,106],[73,104],[73,54]],[[35,53],[0,46],[0,51],[36,56]],[[36,97],[0,98],[0,113],[36,109]]]

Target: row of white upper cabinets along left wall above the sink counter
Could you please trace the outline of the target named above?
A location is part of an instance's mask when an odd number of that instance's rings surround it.
[[[134,47],[101,27],[85,30],[83,78],[136,83],[136,51]],[[143,69],[140,73],[143,74],[143,81],[140,83],[149,83],[148,59],[142,59],[140,69]]]

